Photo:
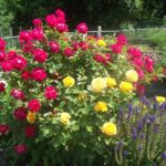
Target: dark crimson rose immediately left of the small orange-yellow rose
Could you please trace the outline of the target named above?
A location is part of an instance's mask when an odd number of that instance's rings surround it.
[[[18,120],[18,121],[25,121],[27,120],[27,111],[25,111],[25,107],[21,106],[21,107],[18,107],[14,113],[13,113],[14,117]]]

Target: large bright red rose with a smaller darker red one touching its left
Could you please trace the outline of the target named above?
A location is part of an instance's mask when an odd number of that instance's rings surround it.
[[[46,79],[46,76],[48,75],[46,75],[45,71],[42,68],[35,68],[31,72],[31,77],[34,81],[38,81],[38,82],[44,81]]]

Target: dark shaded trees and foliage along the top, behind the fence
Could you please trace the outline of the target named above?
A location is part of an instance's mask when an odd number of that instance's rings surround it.
[[[56,8],[66,13],[72,30],[85,21],[91,30],[101,24],[104,29],[164,25],[164,0],[0,0],[0,27],[12,27],[14,32],[30,28],[31,20],[44,18]],[[74,20],[74,21],[73,21]]]

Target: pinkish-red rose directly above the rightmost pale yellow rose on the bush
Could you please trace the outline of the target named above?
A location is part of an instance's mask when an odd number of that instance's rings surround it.
[[[138,48],[131,46],[131,48],[128,48],[127,53],[128,53],[131,60],[142,58],[142,52]]]

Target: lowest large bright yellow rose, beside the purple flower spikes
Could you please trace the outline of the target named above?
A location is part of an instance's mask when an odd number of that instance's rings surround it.
[[[112,135],[117,134],[116,125],[111,123],[111,122],[104,123],[101,131],[102,131],[102,133],[104,133],[107,136],[112,136]]]

